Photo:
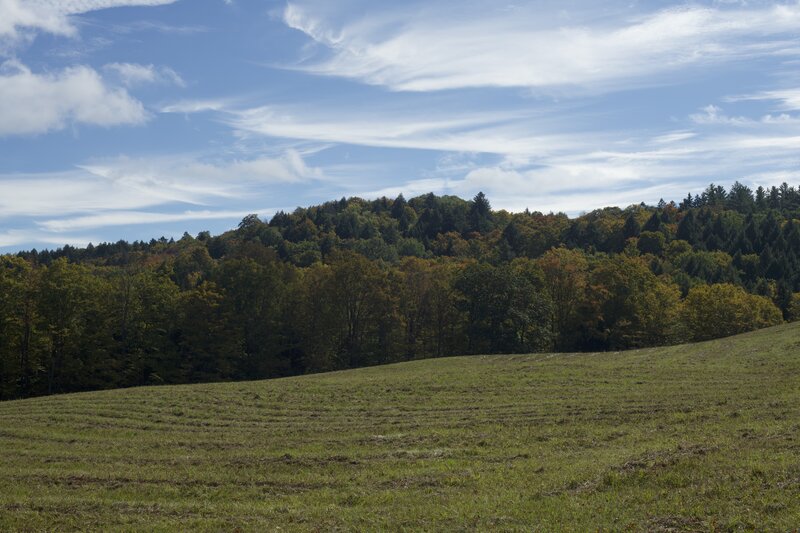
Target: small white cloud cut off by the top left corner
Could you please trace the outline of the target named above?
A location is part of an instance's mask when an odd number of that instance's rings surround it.
[[[0,37],[15,39],[20,28],[56,35],[77,33],[71,15],[124,6],[158,6],[176,0],[0,0]]]

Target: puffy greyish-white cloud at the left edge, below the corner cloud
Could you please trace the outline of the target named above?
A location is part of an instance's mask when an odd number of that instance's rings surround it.
[[[17,61],[0,65],[0,136],[32,135],[70,124],[142,124],[144,106],[87,66],[36,74]]]

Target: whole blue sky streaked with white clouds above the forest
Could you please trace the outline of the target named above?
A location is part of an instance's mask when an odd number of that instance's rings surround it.
[[[0,0],[0,252],[800,182],[800,1]]]

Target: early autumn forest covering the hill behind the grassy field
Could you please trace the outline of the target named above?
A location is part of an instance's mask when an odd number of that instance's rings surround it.
[[[0,399],[431,357],[604,351],[800,319],[800,191],[565,214],[427,194],[222,235],[0,256]]]

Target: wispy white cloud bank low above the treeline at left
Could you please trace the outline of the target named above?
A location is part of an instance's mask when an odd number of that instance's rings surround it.
[[[153,235],[174,234],[170,228],[197,221],[230,227],[250,213],[274,214],[276,207],[264,206],[278,201],[283,187],[308,187],[324,178],[294,150],[246,160],[117,157],[63,172],[0,174],[0,225],[11,226],[0,233],[0,248],[85,245],[98,242],[87,232],[107,235],[115,227],[128,235],[136,226]]]

